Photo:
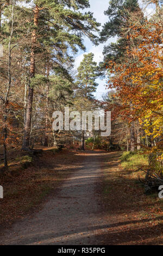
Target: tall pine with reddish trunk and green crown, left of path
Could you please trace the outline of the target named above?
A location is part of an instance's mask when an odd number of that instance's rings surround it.
[[[89,7],[89,1],[57,1],[36,0],[33,8],[33,32],[30,52],[30,80],[27,100],[26,123],[24,124],[24,136],[22,149],[29,149],[30,126],[32,119],[34,88],[30,81],[35,77],[35,59],[38,51],[47,53],[51,47],[53,62],[60,62],[60,58],[68,56],[70,48],[77,52],[77,46],[85,49],[82,36],[87,35],[91,41],[97,44],[97,36],[93,32],[98,31],[99,23],[93,18],[92,13],[81,13],[79,10]],[[42,35],[43,33],[43,35]],[[69,47],[69,49],[68,49]]]

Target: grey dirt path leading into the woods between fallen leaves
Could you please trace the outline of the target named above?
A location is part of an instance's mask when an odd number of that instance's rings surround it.
[[[3,245],[98,245],[108,228],[97,191],[105,152],[84,153],[82,167],[49,197],[43,209],[12,225]],[[75,166],[75,164],[74,164]]]

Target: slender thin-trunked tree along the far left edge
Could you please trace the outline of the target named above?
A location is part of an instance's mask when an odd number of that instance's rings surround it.
[[[19,1],[4,1],[1,4],[1,42],[3,44],[3,57],[0,59],[1,68],[1,132],[4,148],[4,167],[8,168],[7,145],[14,144],[18,140],[18,118],[16,115],[20,110],[20,102],[15,95],[15,88],[19,76],[23,72],[24,41],[28,38],[29,31],[26,30],[26,21],[23,20]],[[24,10],[23,10],[24,11]],[[3,15],[2,15],[3,14]],[[20,62],[22,61],[22,65]]]

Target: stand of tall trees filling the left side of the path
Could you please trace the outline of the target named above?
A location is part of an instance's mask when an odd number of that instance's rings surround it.
[[[39,141],[45,146],[55,144],[52,113],[71,104],[73,55],[78,48],[85,50],[83,36],[93,44],[98,41],[99,23],[92,13],[81,11],[90,6],[89,1],[24,3],[12,0],[0,5],[1,143],[6,168],[9,138],[13,147],[15,140],[27,151]]]

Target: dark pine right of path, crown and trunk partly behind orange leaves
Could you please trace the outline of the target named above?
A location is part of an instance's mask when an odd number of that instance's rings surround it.
[[[109,17],[109,21],[105,23],[101,32],[101,41],[106,41],[111,36],[117,36],[117,42],[114,44],[110,44],[104,47],[104,62],[101,63],[101,68],[105,69],[108,63],[113,62],[117,66],[117,69],[114,70],[114,66],[112,66],[111,70],[109,69],[110,74],[114,74],[114,78],[121,75],[120,66],[122,63],[126,63],[127,60],[127,52],[131,49],[135,48],[137,41],[131,39],[131,34],[133,33],[131,26],[133,23],[143,23],[145,19],[143,18],[143,13],[140,10],[139,4],[137,0],[117,0],[110,1],[109,8],[105,11],[105,15]],[[130,58],[130,57],[129,57]],[[130,58],[131,62],[134,62],[133,58]],[[119,70],[118,70],[119,67]],[[113,79],[114,79],[113,78]],[[110,87],[118,88],[123,87],[125,90],[128,88],[133,88],[133,83],[131,80],[124,79],[123,83],[120,82],[115,83],[115,86],[112,84],[112,78],[110,79]],[[123,92],[121,92],[123,94]],[[120,95],[118,95],[120,96]],[[121,96],[120,96],[121,99]],[[129,106],[130,114],[128,114],[128,118],[130,119],[130,150],[135,150],[136,144],[136,133],[135,133],[135,121],[133,119],[133,103],[130,101]],[[120,106],[118,106],[120,108]],[[139,140],[138,140],[139,141]]]

